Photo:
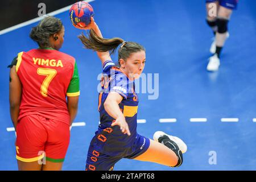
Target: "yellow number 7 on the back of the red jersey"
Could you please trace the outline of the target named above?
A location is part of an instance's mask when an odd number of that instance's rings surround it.
[[[38,68],[38,75],[46,76],[46,78],[43,81],[43,84],[41,85],[40,92],[42,96],[47,97],[47,90],[50,82],[52,79],[56,76],[57,71],[56,69],[49,69],[49,68]]]

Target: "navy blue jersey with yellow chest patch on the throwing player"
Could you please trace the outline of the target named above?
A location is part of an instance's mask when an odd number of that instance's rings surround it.
[[[104,102],[110,92],[117,92],[123,97],[119,107],[129,126],[130,136],[123,134],[119,126],[111,126],[114,118],[104,108]],[[134,81],[129,80],[125,73],[122,73],[119,68],[115,67],[113,61],[105,61],[101,78],[101,92],[98,100],[100,125],[98,126],[98,131],[96,131],[96,137],[94,137],[95,139],[91,143],[96,146],[98,151],[115,156],[123,154],[123,152],[129,153],[129,151],[124,151],[124,148],[131,150],[130,147],[133,146],[137,137],[138,102]]]

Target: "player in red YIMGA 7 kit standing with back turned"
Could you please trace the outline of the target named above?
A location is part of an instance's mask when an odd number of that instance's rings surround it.
[[[18,53],[10,65],[19,170],[61,170],[63,165],[80,95],[75,58],[59,51],[63,37],[61,20],[44,18],[30,32],[39,48]]]

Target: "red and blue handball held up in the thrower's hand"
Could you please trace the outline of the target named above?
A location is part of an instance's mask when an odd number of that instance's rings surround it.
[[[69,9],[69,18],[75,27],[88,26],[90,24],[90,17],[93,15],[93,7],[84,1],[76,2]]]

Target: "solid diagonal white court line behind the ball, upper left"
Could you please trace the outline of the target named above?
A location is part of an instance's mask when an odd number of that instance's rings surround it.
[[[92,1],[95,1],[95,0],[85,0],[85,2],[92,2]],[[54,15],[63,13],[63,12],[65,12],[65,11],[68,11],[68,10],[71,8],[71,6],[72,6],[72,5],[69,5],[69,6],[63,7],[63,8],[61,8],[61,9],[59,9],[59,10],[52,11],[51,13],[48,13],[48,14],[46,14],[46,15],[44,15],[44,16],[54,16]],[[28,20],[27,22],[23,22],[23,23],[20,23],[20,24],[16,24],[16,25],[13,26],[13,27],[9,27],[9,28],[6,28],[6,29],[4,29],[4,30],[1,30],[1,31],[0,31],[0,35],[6,34],[7,32],[16,30],[16,29],[18,29],[18,28],[27,26],[27,25],[29,25],[29,24],[38,22],[38,21],[42,20],[42,19],[44,18],[44,16],[40,16],[40,17],[38,17],[38,18],[34,18],[34,19],[31,19],[31,20]]]

